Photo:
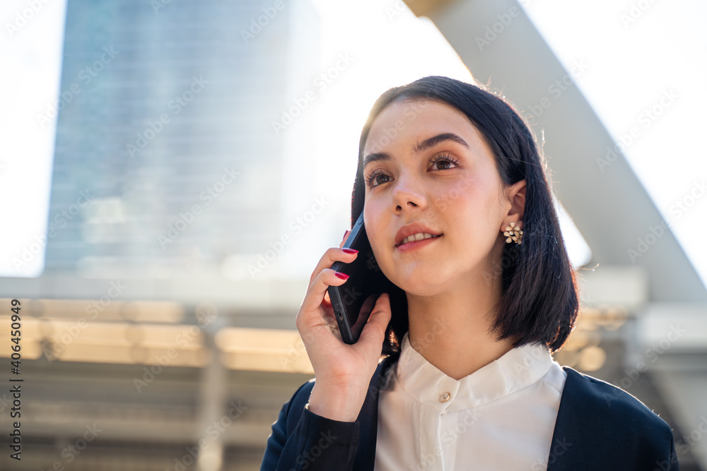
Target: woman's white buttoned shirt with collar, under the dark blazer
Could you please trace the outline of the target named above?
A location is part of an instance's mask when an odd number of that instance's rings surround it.
[[[375,471],[547,468],[566,372],[547,346],[523,345],[450,378],[402,341],[378,398]]]

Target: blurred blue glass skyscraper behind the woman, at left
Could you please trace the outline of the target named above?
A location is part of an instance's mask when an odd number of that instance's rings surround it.
[[[318,67],[314,8],[67,8],[45,275],[218,277],[228,256],[279,239],[283,112]]]

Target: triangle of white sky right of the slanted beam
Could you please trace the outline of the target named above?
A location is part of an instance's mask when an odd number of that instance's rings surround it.
[[[575,81],[707,285],[707,3],[521,3],[566,68],[591,64]]]

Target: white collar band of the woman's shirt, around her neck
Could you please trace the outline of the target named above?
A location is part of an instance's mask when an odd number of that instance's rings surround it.
[[[553,362],[546,345],[522,345],[457,381],[415,350],[406,333],[396,380],[419,403],[440,412],[453,412],[491,403],[530,386],[547,374]]]

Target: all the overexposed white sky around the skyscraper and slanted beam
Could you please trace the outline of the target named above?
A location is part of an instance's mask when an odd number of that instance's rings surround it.
[[[701,235],[707,229],[707,198],[701,198],[700,185],[707,175],[707,159],[698,139],[707,108],[703,85],[707,35],[699,21],[707,16],[707,4],[699,0],[521,3],[564,64],[578,56],[592,64],[595,73],[576,80],[614,138],[619,141],[638,127],[640,136],[626,146],[626,155],[704,282],[707,251],[701,248]],[[631,5],[639,3],[645,10],[636,6],[631,11]],[[6,93],[6,106],[0,110],[0,201],[4,201],[0,217],[17,221],[13,230],[1,236],[0,275],[6,276],[37,276],[44,263],[43,247],[21,273],[11,263],[25,249],[37,249],[37,244],[31,244],[41,239],[49,217],[55,123],[40,126],[36,116],[46,112],[59,92],[66,1],[38,4],[40,10],[12,31],[7,25],[18,24],[18,12],[29,16],[25,14],[28,2],[6,0],[0,10],[0,58],[6,70],[13,71],[0,77],[3,89],[13,91]],[[311,4],[322,28],[321,70],[330,68],[342,53],[348,52],[354,60],[307,110],[312,118],[308,122],[317,126],[306,169],[314,186],[310,193],[288,202],[286,208],[294,213],[283,217],[288,221],[298,215],[296,208],[311,204],[312,195],[331,198],[335,215],[322,218],[323,230],[293,244],[279,260],[284,271],[269,270],[269,276],[308,276],[309,261],[321,256],[322,244],[338,243],[348,227],[358,136],[380,93],[426,75],[469,79],[469,71],[435,26],[415,18],[400,1],[312,0]],[[684,15],[685,11],[691,13]],[[666,93],[675,98],[662,106]],[[660,116],[652,119],[645,110],[656,106]],[[567,217],[563,232],[573,262],[582,264],[588,249]]]

